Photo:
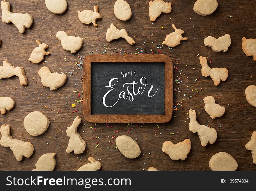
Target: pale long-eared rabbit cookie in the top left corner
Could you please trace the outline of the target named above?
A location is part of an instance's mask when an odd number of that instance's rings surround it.
[[[12,22],[18,29],[19,33],[24,33],[26,28],[31,27],[33,23],[33,17],[28,13],[12,13],[10,12],[10,3],[7,1],[1,1],[2,9],[2,22]]]

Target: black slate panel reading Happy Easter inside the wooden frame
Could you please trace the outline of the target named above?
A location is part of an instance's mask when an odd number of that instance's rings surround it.
[[[164,63],[91,63],[92,114],[164,115],[164,101]]]

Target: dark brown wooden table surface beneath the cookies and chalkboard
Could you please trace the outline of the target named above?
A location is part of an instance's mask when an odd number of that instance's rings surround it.
[[[17,77],[0,80],[0,96],[10,96],[15,100],[15,107],[7,112],[9,115],[0,116],[0,125],[10,125],[13,138],[30,141],[35,150],[30,158],[24,157],[21,162],[18,162],[10,148],[1,146],[1,170],[32,170],[42,154],[53,152],[56,152],[55,170],[77,170],[88,163],[89,155],[96,160],[101,159],[101,170],[146,170],[148,167],[155,167],[158,170],[210,170],[211,156],[222,151],[231,154],[237,160],[238,170],[256,170],[251,151],[244,147],[253,131],[256,131],[256,108],[251,106],[245,98],[245,88],[248,85],[256,85],[256,63],[252,57],[247,57],[243,53],[241,47],[243,37],[256,38],[256,1],[218,0],[217,10],[205,17],[194,13],[195,0],[166,1],[172,3],[172,12],[162,14],[153,24],[149,19],[149,1],[147,0],[127,0],[132,10],[132,17],[126,22],[115,17],[114,0],[92,0],[92,2],[68,0],[68,8],[61,15],[50,13],[42,0],[26,2],[10,0],[12,12],[29,13],[33,16],[34,22],[23,34],[20,34],[13,24],[0,22],[2,41],[0,61],[8,60],[14,66],[23,66],[28,78],[26,87],[19,85]],[[81,23],[77,15],[78,10],[93,10],[94,5],[99,5],[99,11],[102,14],[102,19],[97,20],[97,31],[92,24]],[[111,23],[114,23],[118,29],[126,28],[136,44],[131,46],[123,39],[107,42],[105,35]],[[174,31],[172,24],[184,30],[183,36],[188,37],[188,40],[182,41],[180,45],[170,50],[162,46],[162,41],[166,34]],[[85,46],[74,55],[63,50],[61,43],[55,38],[60,30],[70,35],[80,36]],[[210,47],[204,46],[203,40],[207,36],[218,38],[226,33],[231,35],[232,42],[225,53],[214,52]],[[150,35],[152,35],[151,38]],[[27,60],[31,51],[38,46],[36,39],[48,44],[47,51],[51,52],[49,56],[45,56],[41,64],[31,64]],[[173,64],[178,68],[174,70],[174,78],[177,77],[179,81],[183,81],[180,84],[173,84],[174,106],[177,104],[178,106],[177,110],[173,111],[171,121],[158,124],[159,128],[156,124],[131,124],[130,126],[109,124],[107,127],[105,124],[91,124],[83,119],[78,132],[86,141],[86,151],[79,155],[73,152],[66,153],[66,147],[64,148],[63,145],[67,146],[69,138],[65,131],[72,124],[74,117],[82,116],[82,103],[77,104],[74,101],[81,100],[81,97],[78,97],[79,93],[73,92],[82,91],[82,71],[80,67],[75,66],[79,61],[78,56],[84,57],[90,51],[98,53],[97,50],[101,54],[105,52],[106,47],[108,48],[105,54],[116,54],[121,48],[122,52],[126,51],[126,53],[136,53],[145,49],[150,54],[152,48],[152,51],[158,54],[160,52],[156,44],[160,44],[163,48],[160,48],[161,52],[170,55]],[[208,62],[212,59],[210,67],[226,67],[229,70],[227,80],[214,86],[211,78],[203,77],[198,54],[208,56]],[[42,66],[49,67],[52,72],[66,72],[68,78],[65,85],[56,91],[40,86],[41,78],[37,73]],[[208,95],[215,97],[216,103],[225,106],[226,112],[222,117],[211,119],[205,112],[201,97]],[[75,108],[71,107],[73,103],[76,103]],[[213,145],[208,144],[202,147],[198,135],[189,131],[187,115],[189,108],[196,110],[200,124],[208,124],[216,129],[218,137]],[[74,110],[77,112],[72,113]],[[48,130],[37,137],[29,135],[23,126],[24,117],[32,111],[44,112],[50,120]],[[110,128],[111,126],[113,127]],[[130,131],[127,134],[128,129]],[[115,133],[116,131],[119,132]],[[175,134],[170,135],[170,133]],[[138,139],[137,142],[143,149],[138,158],[127,159],[114,148],[115,138],[112,140],[112,137],[119,135],[129,135],[133,139]],[[97,139],[93,139],[96,137]],[[185,138],[191,140],[191,151],[186,160],[174,161],[162,152],[164,141],[170,140],[176,144]],[[99,146],[95,149],[97,144]],[[110,149],[107,149],[108,146]]]

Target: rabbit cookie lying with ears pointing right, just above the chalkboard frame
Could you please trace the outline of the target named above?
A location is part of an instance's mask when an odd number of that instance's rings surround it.
[[[128,33],[125,29],[118,30],[113,23],[111,23],[110,28],[108,28],[106,33],[106,40],[110,42],[118,38],[124,38],[129,44],[133,45],[136,43],[131,37],[128,36]]]

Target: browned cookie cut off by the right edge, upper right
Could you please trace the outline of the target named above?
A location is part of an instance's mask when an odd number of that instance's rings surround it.
[[[243,37],[242,49],[246,56],[252,56],[256,62],[256,39]]]

